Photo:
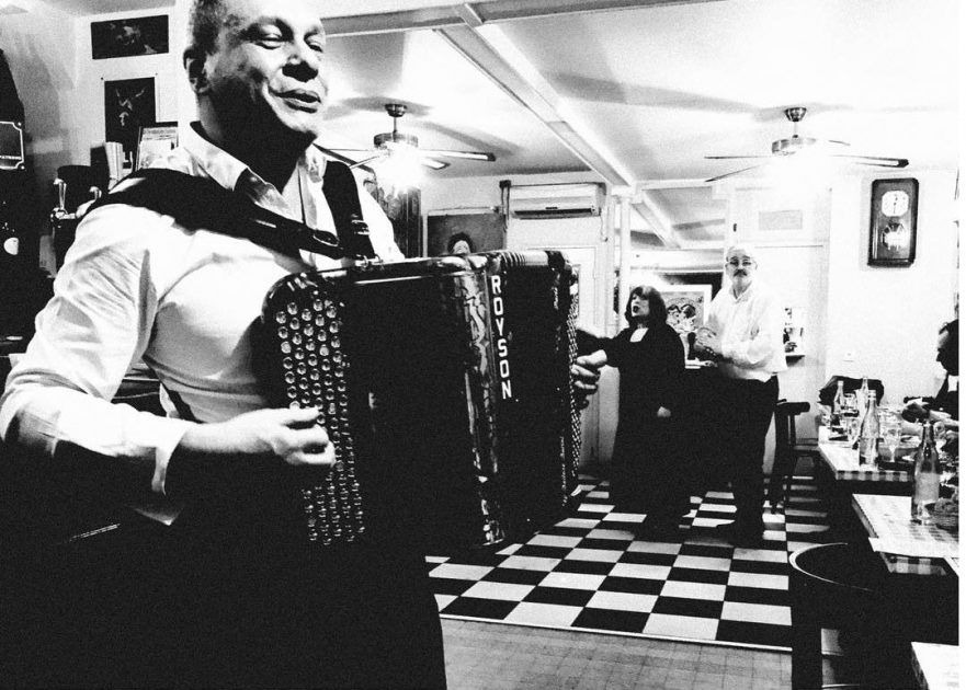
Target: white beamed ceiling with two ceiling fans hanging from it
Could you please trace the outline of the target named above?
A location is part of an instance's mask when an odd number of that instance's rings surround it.
[[[48,1],[78,14],[173,4]],[[803,135],[955,170],[958,3],[327,0],[322,142],[368,147],[390,125],[382,104],[399,101],[400,130],[423,148],[497,154],[441,177],[594,170],[636,184],[751,164],[704,157],[769,153],[791,135],[782,110],[805,105]]]

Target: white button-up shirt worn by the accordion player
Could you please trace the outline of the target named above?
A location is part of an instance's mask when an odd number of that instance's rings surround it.
[[[315,149],[299,163],[300,206],[196,133],[154,166],[211,177],[257,204],[334,232],[322,194],[326,160]],[[373,248],[402,258],[378,204],[360,189]],[[107,205],[77,228],[36,319],[36,335],[0,400],[0,436],[53,456],[76,444],[133,464],[152,465],[163,492],[168,460],[193,422],[112,404],[125,372],[143,359],[201,422],[221,422],[265,406],[250,367],[248,331],[277,279],[339,262],[308,252],[297,258],[248,240],[189,230],[170,216]],[[163,396],[162,396],[163,399]]]

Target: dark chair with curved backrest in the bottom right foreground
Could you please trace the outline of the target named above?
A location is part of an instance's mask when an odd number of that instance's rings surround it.
[[[908,645],[889,622],[883,564],[864,544],[807,547],[788,563],[793,690],[914,687]],[[857,685],[823,685],[822,628],[850,634]]]

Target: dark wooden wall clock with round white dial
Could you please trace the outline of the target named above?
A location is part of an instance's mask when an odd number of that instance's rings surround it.
[[[919,181],[875,180],[868,227],[870,266],[909,266],[916,258]]]

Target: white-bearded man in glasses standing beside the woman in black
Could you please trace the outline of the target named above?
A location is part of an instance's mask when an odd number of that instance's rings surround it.
[[[723,450],[737,513],[720,531],[742,547],[759,543],[764,532],[764,438],[779,399],[776,375],[787,368],[784,311],[774,294],[755,279],[757,271],[751,246],[728,249],[725,273],[730,285],[712,300],[707,329],[697,336],[698,347],[717,360],[725,378],[719,401]]]

